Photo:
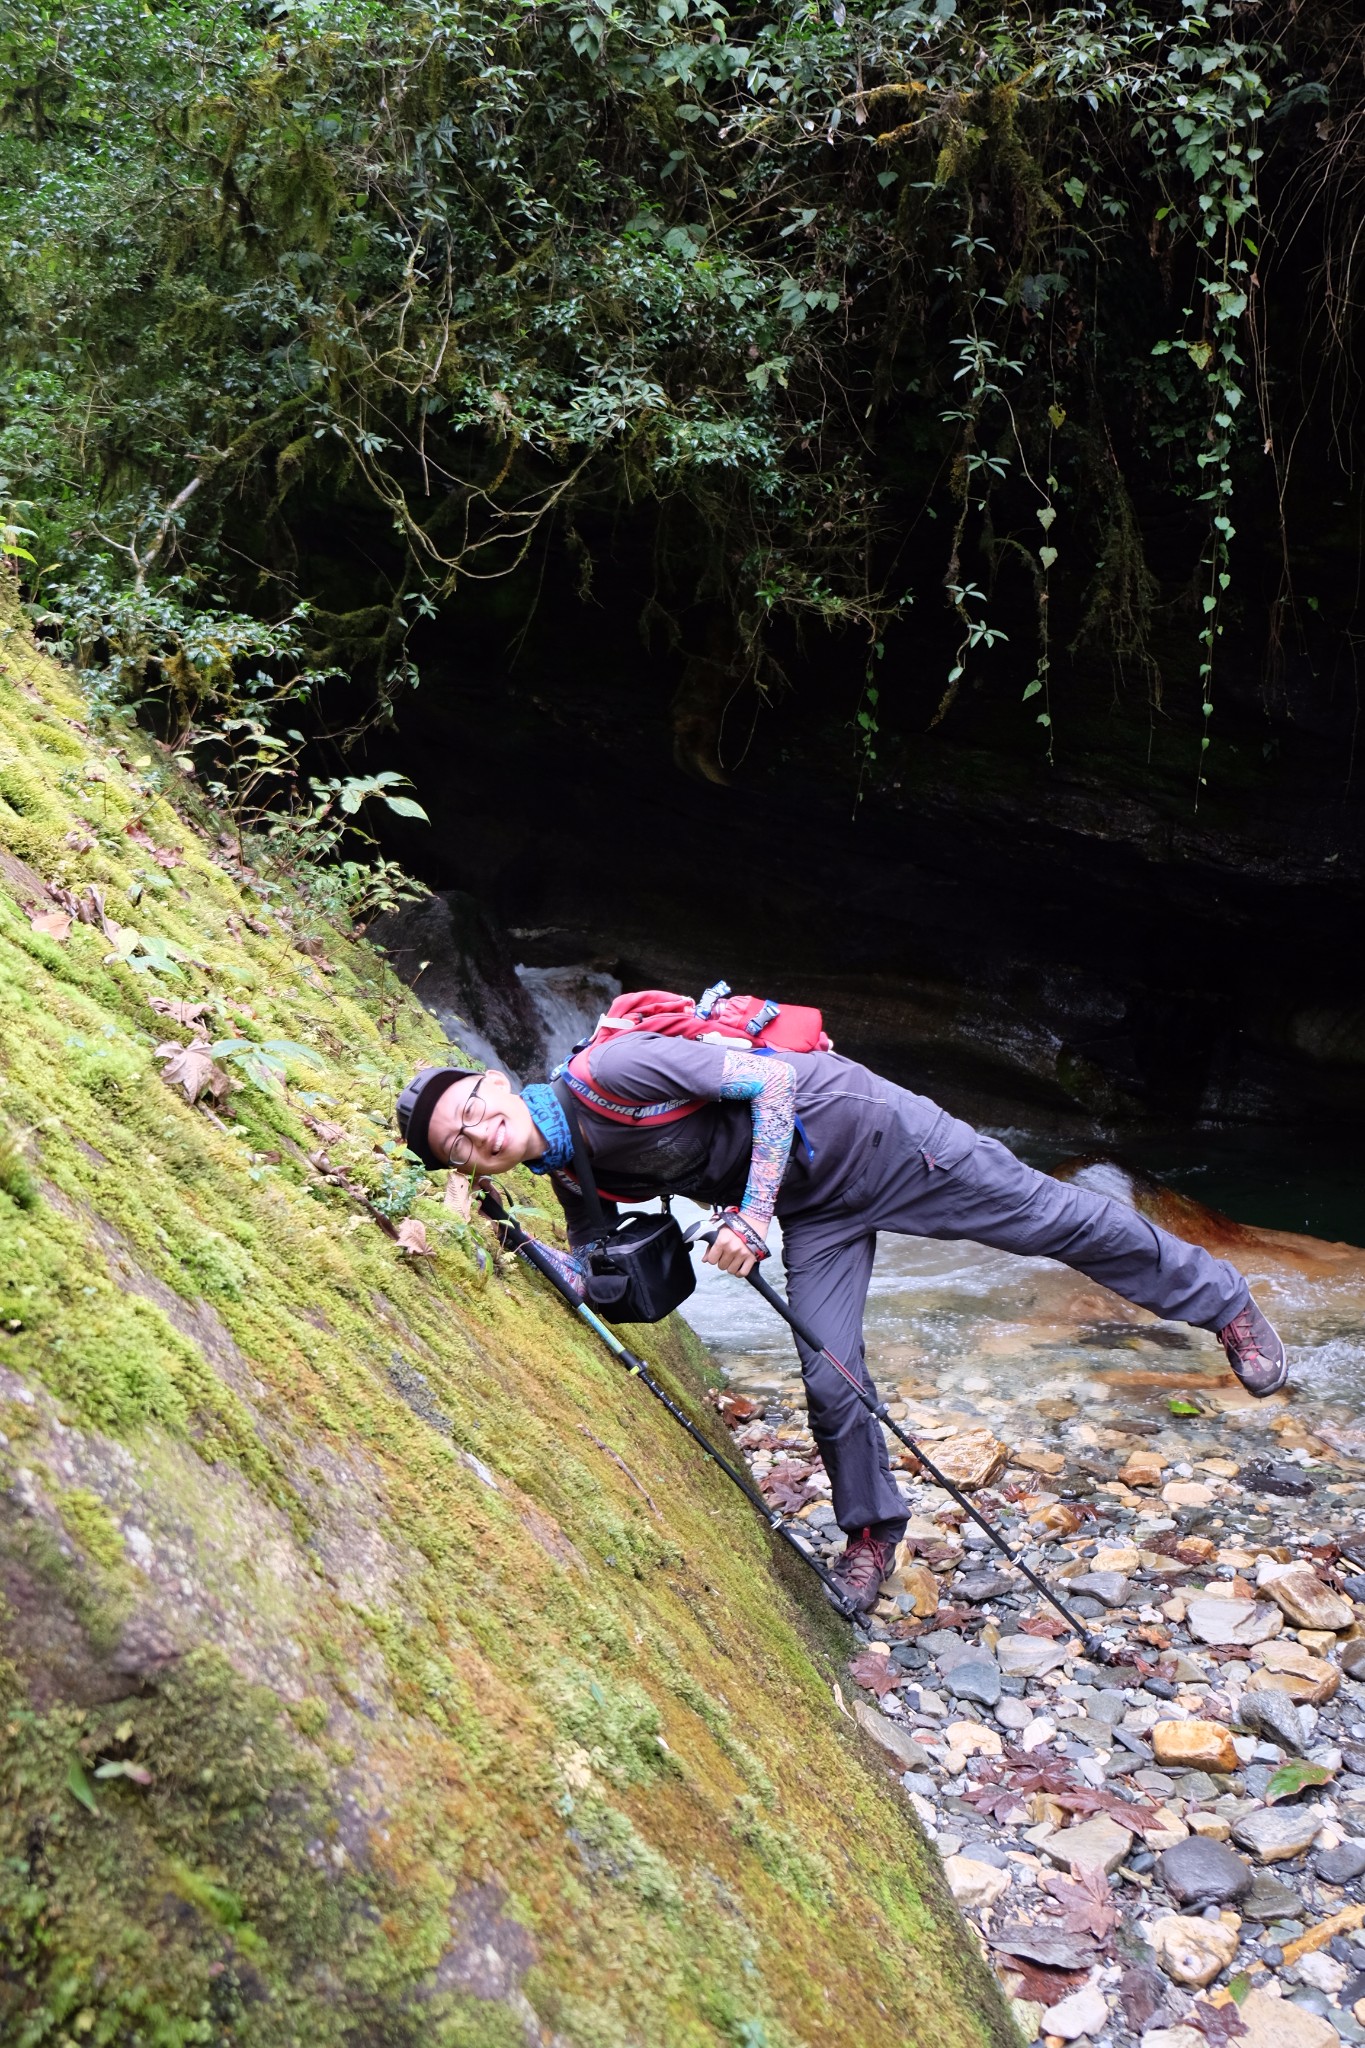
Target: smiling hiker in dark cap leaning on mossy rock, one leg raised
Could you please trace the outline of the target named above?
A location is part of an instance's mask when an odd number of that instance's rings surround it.
[[[399,1102],[399,1130],[432,1169],[548,1174],[571,1249],[544,1249],[589,1307],[602,1241],[593,1217],[614,1217],[616,1202],[681,1194],[720,1212],[706,1264],[739,1278],[767,1257],[778,1217],[792,1309],[868,1386],[862,1321],[878,1231],[1060,1260],[1160,1317],[1216,1331],[1250,1395],[1285,1384],[1285,1348],[1228,1262],[1109,1196],[1038,1174],[927,1096],[843,1059],[821,1030],[788,1030],[802,1049],[765,1047],[767,1030],[749,1042],[739,1032],[708,1042],[675,1034],[679,1016],[688,1032],[706,1022],[702,1006],[659,1001],[686,1006],[686,1016],[618,997],[553,1085],[518,1094],[495,1069],[430,1067]],[[735,1004],[757,1008],[755,997]],[[608,1028],[618,1012],[620,1026]],[[769,1012],[778,1006],[759,1016]],[[819,1012],[790,1016],[819,1026]],[[659,1020],[663,1030],[641,1028]],[[745,1030],[751,1024],[753,1016]],[[585,1192],[581,1176],[598,1186]],[[675,1298],[684,1294],[686,1286]],[[829,1360],[796,1348],[835,1520],[847,1534],[833,1575],[870,1612],[909,1509],[876,1419]]]

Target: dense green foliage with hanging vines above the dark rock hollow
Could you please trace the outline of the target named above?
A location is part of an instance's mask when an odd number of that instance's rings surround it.
[[[923,723],[984,676],[1050,745],[1087,649],[1158,707],[1175,629],[1205,748],[1238,563],[1283,647],[1295,432],[1351,414],[1359,31],[1271,14],[16,0],[31,592],[186,719],[332,666],[383,705],[432,606],[630,524],[735,678],[851,627],[868,754],[911,602]]]

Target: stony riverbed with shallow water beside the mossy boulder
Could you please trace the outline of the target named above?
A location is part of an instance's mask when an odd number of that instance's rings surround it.
[[[1025,2040],[1365,2042],[1365,1253],[1085,1171],[1238,1257],[1293,1384],[1252,1403],[1212,1337],[1048,1262],[888,1247],[868,1356],[892,1413],[1091,1640],[892,1440],[911,1524],[839,1704]],[[753,1477],[829,1559],[800,1378],[755,1309],[712,1278],[694,1321]]]

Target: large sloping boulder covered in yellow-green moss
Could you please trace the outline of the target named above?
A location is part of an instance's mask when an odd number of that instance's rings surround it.
[[[0,2038],[1005,2048],[841,1624],[221,823],[0,612]]]

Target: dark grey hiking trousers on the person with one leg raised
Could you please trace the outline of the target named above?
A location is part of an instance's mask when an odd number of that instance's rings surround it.
[[[1066,1186],[943,1112],[925,1133],[923,1098],[892,1090],[886,1126],[835,1202],[784,1219],[788,1298],[800,1321],[872,1384],[864,1305],[878,1231],[970,1237],[997,1251],[1060,1260],[1126,1300],[1179,1323],[1222,1329],[1250,1300],[1226,1260],[1160,1231],[1103,1194]],[[898,1538],[907,1505],[882,1425],[829,1360],[798,1343],[810,1430],[839,1528]]]

